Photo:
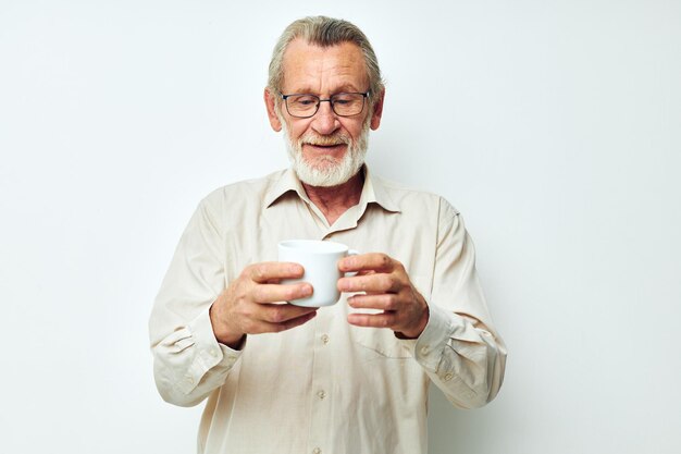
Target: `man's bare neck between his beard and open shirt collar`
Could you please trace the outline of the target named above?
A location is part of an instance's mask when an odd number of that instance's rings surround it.
[[[338,186],[321,187],[302,183],[310,201],[324,214],[329,225],[333,225],[344,212],[359,204],[363,186],[364,174],[361,170]]]

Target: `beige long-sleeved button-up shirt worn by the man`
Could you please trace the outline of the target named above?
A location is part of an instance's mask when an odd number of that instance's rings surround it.
[[[459,408],[490,402],[506,349],[461,216],[443,198],[367,171],[359,205],[333,225],[290,170],[220,188],[199,205],[156,299],[150,327],[164,400],[208,398],[198,452],[425,453],[429,383]],[[283,240],[330,240],[401,261],[430,305],[418,340],[347,322],[340,300],[308,323],[216,342],[210,305],[242,270],[276,260]]]

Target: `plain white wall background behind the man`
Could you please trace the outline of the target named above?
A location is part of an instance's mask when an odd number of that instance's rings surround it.
[[[487,407],[431,393],[430,452],[681,452],[671,0],[0,0],[0,452],[194,452],[151,303],[198,200],[287,165],[267,65],[321,13],[385,73],[370,164],[463,213],[509,347]]]

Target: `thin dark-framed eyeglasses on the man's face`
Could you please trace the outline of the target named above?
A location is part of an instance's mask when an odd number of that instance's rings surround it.
[[[322,102],[329,102],[331,109],[338,116],[352,116],[362,113],[364,110],[364,99],[369,97],[367,93],[337,93],[329,99],[321,99],[315,95],[282,95],[286,103],[286,111],[290,116],[297,119],[309,119],[314,116]]]

